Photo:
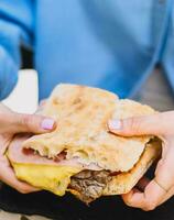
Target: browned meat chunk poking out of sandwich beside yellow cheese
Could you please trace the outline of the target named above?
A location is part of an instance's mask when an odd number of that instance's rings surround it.
[[[101,196],[111,178],[108,170],[83,170],[70,178],[69,188],[78,191],[79,199],[89,204]]]

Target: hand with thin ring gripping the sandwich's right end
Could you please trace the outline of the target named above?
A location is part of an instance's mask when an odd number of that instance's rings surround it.
[[[139,187],[122,195],[128,206],[153,210],[174,195],[174,111],[153,116],[109,121],[109,130],[118,135],[155,135],[163,141],[162,157],[152,180],[143,177]]]

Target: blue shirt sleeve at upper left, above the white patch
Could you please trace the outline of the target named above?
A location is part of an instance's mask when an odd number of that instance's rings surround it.
[[[32,0],[0,0],[0,100],[15,86],[21,66],[21,45],[32,47]]]

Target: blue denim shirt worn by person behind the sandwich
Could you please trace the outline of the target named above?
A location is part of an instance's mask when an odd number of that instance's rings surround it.
[[[15,85],[20,45],[34,52],[40,99],[58,82],[132,97],[156,63],[174,90],[173,0],[0,0],[1,99]]]

